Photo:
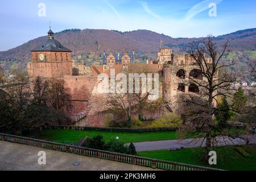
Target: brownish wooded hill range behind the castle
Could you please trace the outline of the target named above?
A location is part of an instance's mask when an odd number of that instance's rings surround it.
[[[0,60],[8,71],[12,68],[26,68],[26,61],[30,60],[31,49],[39,46],[47,36],[41,36],[18,47],[0,52]],[[101,54],[106,52],[124,52],[135,50],[137,59],[156,59],[159,51],[160,39],[163,47],[169,47],[174,52],[183,51],[184,47],[200,38],[172,38],[148,30],[120,32],[116,30],[71,29],[57,32],[55,39],[63,46],[73,51],[73,57],[90,64],[100,64]],[[256,28],[240,30],[230,34],[214,37],[219,44],[229,41],[233,57],[256,57]],[[232,56],[230,56],[232,57]]]

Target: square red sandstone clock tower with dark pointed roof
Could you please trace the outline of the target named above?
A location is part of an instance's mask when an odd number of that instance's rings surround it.
[[[31,51],[31,62],[27,64],[28,76],[60,78],[72,75],[71,53],[71,50],[54,39],[50,27],[48,39]]]

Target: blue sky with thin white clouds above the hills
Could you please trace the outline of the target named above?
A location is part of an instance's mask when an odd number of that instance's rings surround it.
[[[151,30],[173,38],[256,28],[255,0],[0,1],[0,51],[69,28]]]

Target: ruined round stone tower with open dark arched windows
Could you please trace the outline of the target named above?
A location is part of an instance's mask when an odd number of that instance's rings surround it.
[[[207,59],[207,62],[212,64],[211,59]],[[196,61],[190,55],[185,54],[174,54],[173,60],[163,65],[163,78],[163,100],[170,111],[177,111],[180,96],[184,94],[200,96],[201,88],[195,83],[189,84],[190,78],[200,83],[206,81]]]

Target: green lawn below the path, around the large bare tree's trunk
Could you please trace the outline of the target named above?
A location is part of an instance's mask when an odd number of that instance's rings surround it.
[[[237,146],[214,148],[217,152],[217,165],[207,165],[203,162],[204,148],[184,148],[177,151],[158,150],[137,152],[147,158],[170,160],[172,162],[195,164],[227,170],[256,170],[256,145],[240,146],[249,156],[239,152]]]

